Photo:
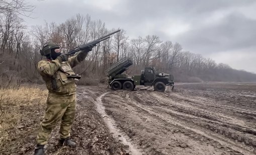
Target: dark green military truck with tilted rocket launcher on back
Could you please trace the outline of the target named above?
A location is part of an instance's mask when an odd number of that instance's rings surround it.
[[[154,67],[145,67],[140,75],[128,77],[127,74],[122,74],[131,66],[131,59],[125,57],[112,65],[106,70],[109,86],[113,90],[133,90],[136,85],[153,86],[155,91],[165,91],[165,86],[170,86],[174,89],[174,76],[164,73],[157,73]]]

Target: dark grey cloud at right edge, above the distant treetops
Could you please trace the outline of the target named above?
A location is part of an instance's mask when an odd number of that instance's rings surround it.
[[[176,38],[192,52],[218,52],[255,47],[256,21],[234,13],[217,25],[196,28]]]

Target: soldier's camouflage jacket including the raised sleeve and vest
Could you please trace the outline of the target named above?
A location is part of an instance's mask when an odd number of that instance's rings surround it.
[[[39,70],[46,87],[51,94],[70,95],[76,91],[76,84],[73,78],[67,78],[68,74],[74,74],[72,68],[84,60],[87,52],[79,52],[77,55],[69,57],[68,61],[59,62],[58,59],[49,60],[43,57],[38,62],[37,69]],[[53,88],[55,80],[56,88]]]

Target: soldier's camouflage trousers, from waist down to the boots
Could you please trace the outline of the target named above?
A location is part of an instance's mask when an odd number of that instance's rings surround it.
[[[60,138],[69,137],[71,125],[74,121],[75,108],[76,94],[67,96],[48,94],[45,115],[37,134],[36,143],[47,144],[52,129],[56,127],[60,120]]]

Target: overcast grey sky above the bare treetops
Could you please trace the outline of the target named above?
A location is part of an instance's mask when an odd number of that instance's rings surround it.
[[[183,51],[201,54],[234,69],[256,73],[255,0],[27,0],[35,5],[36,19],[57,24],[76,14],[101,20],[110,30],[124,29],[126,36],[157,35],[178,42]]]

